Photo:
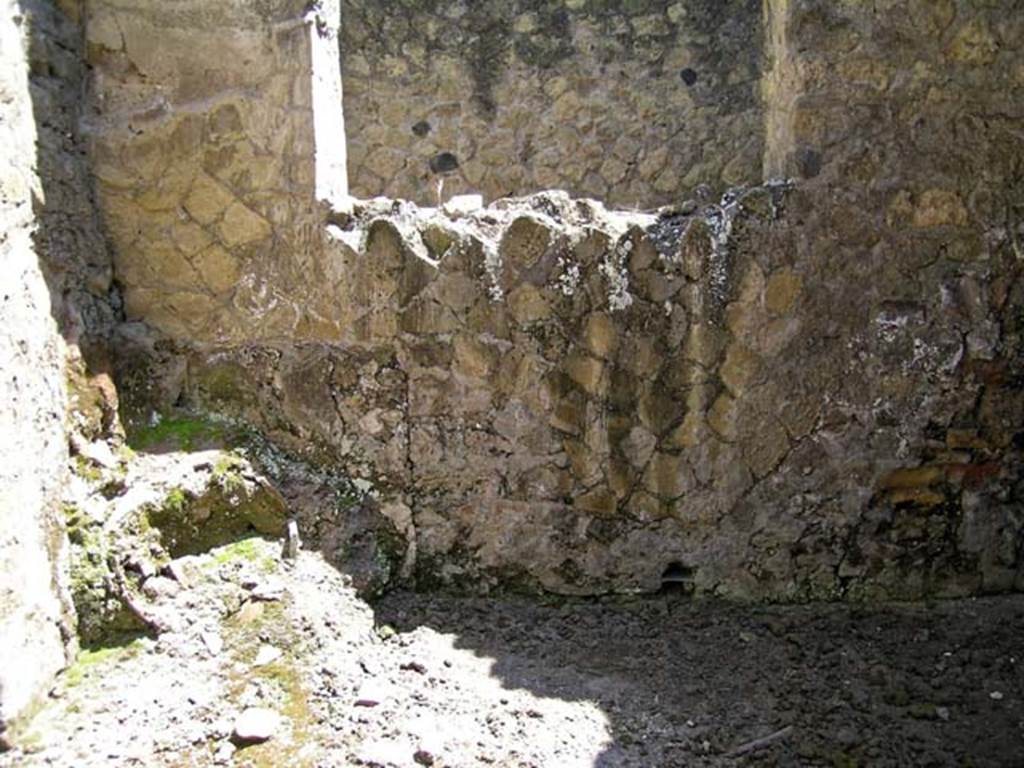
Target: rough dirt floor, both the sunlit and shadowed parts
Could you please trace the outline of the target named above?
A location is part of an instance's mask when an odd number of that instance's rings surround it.
[[[371,607],[259,539],[178,564],[167,631],[84,651],[0,765],[1024,766],[1024,596]]]

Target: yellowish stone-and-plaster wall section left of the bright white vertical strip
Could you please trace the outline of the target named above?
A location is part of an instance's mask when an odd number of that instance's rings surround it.
[[[283,332],[272,297],[316,269],[323,219],[307,3],[87,5],[86,129],[128,317]]]

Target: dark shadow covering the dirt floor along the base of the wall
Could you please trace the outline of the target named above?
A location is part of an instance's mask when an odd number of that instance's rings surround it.
[[[614,741],[595,768],[1024,764],[1024,596],[862,609],[398,593],[375,609],[399,632],[456,635],[505,688],[599,705]]]

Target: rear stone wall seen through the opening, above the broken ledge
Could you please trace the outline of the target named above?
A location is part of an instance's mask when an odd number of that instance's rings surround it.
[[[346,0],[341,44],[354,195],[652,207],[762,177],[759,0]]]

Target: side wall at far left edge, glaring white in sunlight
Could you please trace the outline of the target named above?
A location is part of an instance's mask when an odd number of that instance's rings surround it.
[[[0,4],[0,740],[63,667],[72,627],[59,569],[68,438],[58,319],[81,316],[69,308],[89,304],[65,301],[63,273],[88,270],[80,268],[85,249],[61,230],[54,207],[85,178],[63,134],[71,120],[62,89],[81,84],[76,47],[76,28],[48,4]],[[55,167],[65,173],[51,185]],[[69,244],[71,253],[47,263],[45,254]]]

